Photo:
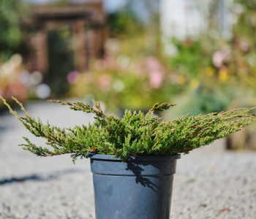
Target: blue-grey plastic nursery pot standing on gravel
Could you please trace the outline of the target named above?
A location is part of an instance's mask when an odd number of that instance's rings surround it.
[[[180,154],[135,156],[90,154],[96,219],[169,219],[173,174]]]

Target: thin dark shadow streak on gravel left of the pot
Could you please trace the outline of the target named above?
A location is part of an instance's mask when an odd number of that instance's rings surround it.
[[[0,179],[0,186],[10,183],[25,183],[26,181],[38,181],[38,182],[45,182],[48,180],[56,180],[58,177],[64,174],[75,174],[75,173],[84,173],[84,170],[81,169],[65,169],[64,171],[60,172],[53,172],[48,176],[42,176],[39,174],[31,174],[25,177],[12,177],[6,179]]]

